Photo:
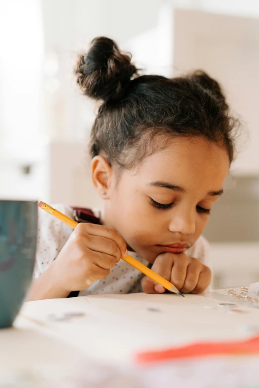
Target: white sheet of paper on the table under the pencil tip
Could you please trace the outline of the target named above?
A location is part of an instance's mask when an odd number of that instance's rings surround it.
[[[220,296],[219,296],[220,300]],[[133,360],[136,352],[196,341],[241,340],[254,335],[259,309],[229,313],[219,300],[188,294],[92,295],[27,302],[21,316],[37,330],[62,337],[91,357],[109,362]],[[64,321],[53,314],[81,313]],[[17,320],[19,325],[19,320]]]

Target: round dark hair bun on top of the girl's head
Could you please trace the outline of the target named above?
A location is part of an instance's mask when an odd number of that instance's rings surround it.
[[[117,44],[105,37],[95,38],[89,51],[80,55],[75,74],[84,95],[96,100],[120,100],[133,74],[131,56],[120,52]]]

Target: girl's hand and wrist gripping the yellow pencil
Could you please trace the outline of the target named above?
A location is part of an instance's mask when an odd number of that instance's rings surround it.
[[[128,256],[128,251],[119,233],[106,226],[79,223],[49,267],[51,282],[67,293],[84,290],[107,277],[122,256]]]

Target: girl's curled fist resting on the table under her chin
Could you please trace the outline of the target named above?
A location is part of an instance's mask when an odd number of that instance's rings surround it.
[[[211,271],[197,259],[184,253],[162,253],[154,261],[152,270],[171,281],[182,293],[198,294],[210,284]],[[142,289],[147,294],[165,292],[165,288],[149,277],[141,280]]]

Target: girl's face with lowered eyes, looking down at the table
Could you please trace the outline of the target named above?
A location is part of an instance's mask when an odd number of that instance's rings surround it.
[[[135,170],[111,173],[104,224],[153,263],[181,253],[202,234],[229,170],[227,151],[202,137],[178,137]]]

